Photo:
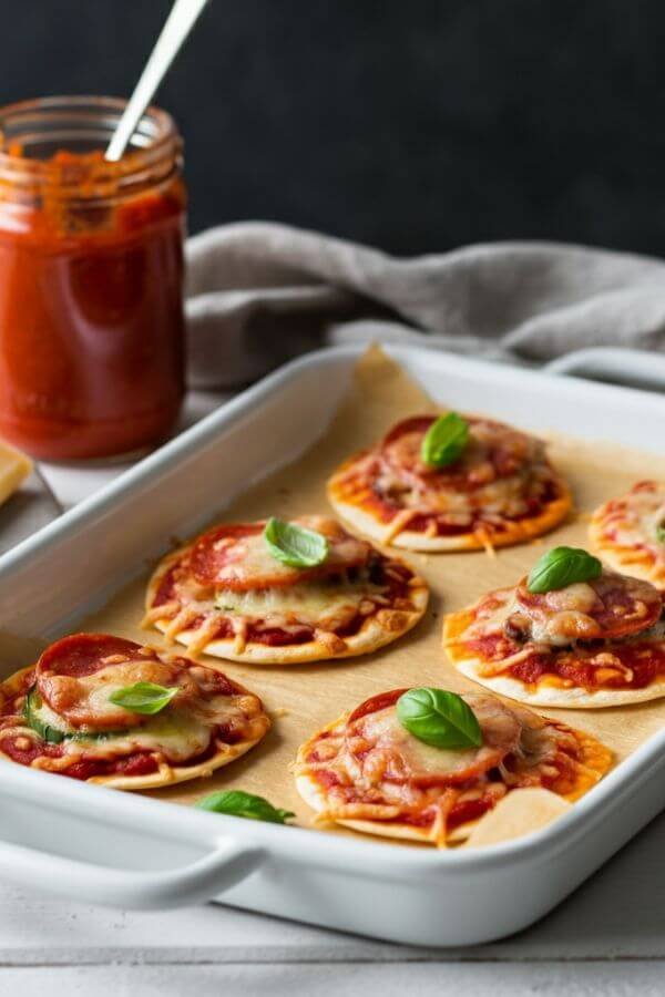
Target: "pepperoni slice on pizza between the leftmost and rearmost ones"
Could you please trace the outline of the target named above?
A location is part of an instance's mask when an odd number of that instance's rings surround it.
[[[259,522],[222,525],[204,533],[188,554],[188,568],[201,585],[247,592],[295,585],[367,563],[369,544],[348,534],[335,520],[301,516],[293,522],[327,538],[328,556],[324,564],[294,568],[276,561],[263,536],[266,524]]]

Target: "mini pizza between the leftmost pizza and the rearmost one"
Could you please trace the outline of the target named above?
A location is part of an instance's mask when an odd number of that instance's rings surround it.
[[[270,543],[277,522],[214,526],[165,557],[145,625],[193,655],[290,665],[369,654],[422,617],[428,587],[403,562],[324,516]]]

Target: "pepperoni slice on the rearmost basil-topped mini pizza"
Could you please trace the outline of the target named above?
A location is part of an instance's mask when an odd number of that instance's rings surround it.
[[[472,490],[519,473],[535,455],[538,441],[525,433],[490,419],[466,417],[471,433],[462,455],[447,467],[432,469],[422,462],[420,448],[436,418],[415,415],[405,419],[383,439],[383,460],[405,480]]]

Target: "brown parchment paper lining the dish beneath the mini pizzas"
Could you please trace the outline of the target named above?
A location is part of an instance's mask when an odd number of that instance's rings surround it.
[[[444,398],[444,391],[442,395]],[[379,349],[370,349],[358,363],[347,399],[325,435],[308,453],[252,487],[231,507],[212,508],[211,523],[329,512],[326,480],[345,458],[371,445],[398,420],[432,411],[437,411],[437,407],[406,372]],[[583,425],[580,432],[584,432]],[[298,747],[318,728],[388,689],[429,685],[456,691],[478,691],[479,686],[453,670],[441,648],[443,613],[470,605],[491,588],[513,584],[550,546],[589,546],[589,516],[600,503],[623,494],[640,479],[665,479],[665,458],[602,441],[575,440],[555,432],[541,435],[551,441],[550,455],[573,490],[576,512],[567,522],[530,544],[498,551],[495,558],[484,552],[412,554],[400,551],[399,556],[429,582],[430,605],[411,633],[376,654],[285,668],[241,665],[202,656],[201,660],[209,668],[226,672],[262,697],[273,717],[273,729],[248,754],[209,779],[164,788],[147,795],[190,804],[214,790],[243,789],[267,796],[276,806],[295,811],[298,824],[311,826],[313,812],[296,792],[289,765]],[[607,438],[611,436],[608,420]],[[144,579],[130,585],[102,610],[83,620],[80,629],[119,634],[163,647],[160,634],[140,628],[149,576],[150,571],[146,571]],[[7,649],[6,640],[3,648]],[[12,657],[18,659],[22,649],[23,643],[14,648]],[[22,661],[17,660],[17,667],[20,664],[29,661],[23,657]],[[617,761],[665,723],[665,699],[618,709],[538,711],[589,731],[615,752]],[[334,830],[346,835],[352,833]],[[378,837],[372,840],[380,841]]]

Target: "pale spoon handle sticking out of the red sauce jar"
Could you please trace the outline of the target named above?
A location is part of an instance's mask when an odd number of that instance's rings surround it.
[[[106,160],[116,162],[122,157],[145,109],[206,3],[207,0],[175,0],[134,93],[117,122],[106,148]]]

